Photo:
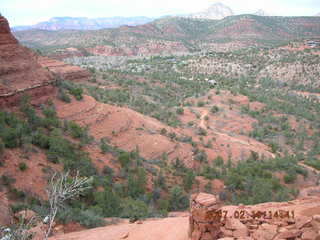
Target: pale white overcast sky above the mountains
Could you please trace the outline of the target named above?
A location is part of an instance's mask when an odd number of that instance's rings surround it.
[[[51,17],[112,17],[185,14],[202,11],[215,2],[236,14],[264,9],[275,15],[311,16],[320,0],[0,0],[0,13],[12,26],[35,24]]]

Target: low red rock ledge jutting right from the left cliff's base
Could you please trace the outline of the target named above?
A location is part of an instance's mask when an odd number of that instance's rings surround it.
[[[47,57],[40,57],[39,63],[42,67],[48,68],[51,72],[62,79],[69,81],[89,80],[90,73],[88,70],[66,64]]]

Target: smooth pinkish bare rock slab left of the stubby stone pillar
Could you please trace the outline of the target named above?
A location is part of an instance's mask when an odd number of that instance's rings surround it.
[[[73,232],[50,240],[187,240],[188,217],[147,220],[142,224],[119,224]]]

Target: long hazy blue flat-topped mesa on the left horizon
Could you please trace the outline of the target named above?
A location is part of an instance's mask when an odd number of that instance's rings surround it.
[[[103,28],[117,28],[120,26],[137,26],[153,21],[148,17],[110,17],[110,18],[86,18],[86,17],[54,17],[49,21],[40,22],[32,26],[17,26],[13,31],[28,29],[42,30],[98,30]]]

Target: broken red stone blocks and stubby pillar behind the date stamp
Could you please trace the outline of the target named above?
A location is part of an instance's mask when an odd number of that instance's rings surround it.
[[[191,200],[189,236],[192,240],[320,239],[319,200],[219,207],[217,197],[196,194]]]

